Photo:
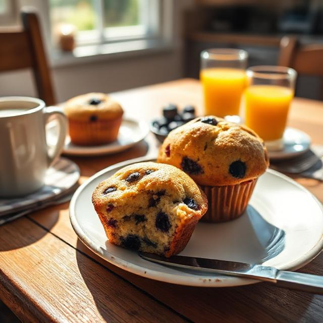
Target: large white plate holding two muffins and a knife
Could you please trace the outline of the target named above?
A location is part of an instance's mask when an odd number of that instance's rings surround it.
[[[78,188],[70,204],[70,218],[80,240],[124,270],[158,281],[205,287],[256,283],[250,279],[163,266],[107,241],[91,203],[93,190],[120,168],[148,160],[132,159],[104,169]],[[221,224],[199,222],[181,254],[295,270],[321,251],[322,235],[323,207],[319,201],[287,176],[268,170],[259,178],[248,209],[241,218]]]

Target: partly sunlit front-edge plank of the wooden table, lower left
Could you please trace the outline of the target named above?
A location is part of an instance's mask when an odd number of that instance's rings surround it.
[[[0,250],[0,296],[23,321],[185,321],[28,219],[0,227]]]

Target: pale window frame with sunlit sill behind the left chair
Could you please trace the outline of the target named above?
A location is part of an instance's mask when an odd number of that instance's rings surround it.
[[[158,30],[146,38],[115,38],[105,43],[77,44],[73,52],[63,52],[54,45],[51,38],[51,21],[49,0],[8,0],[13,3],[17,17],[11,25],[19,24],[20,11],[23,7],[33,7],[39,13],[43,42],[52,68],[102,62],[107,59],[149,55],[150,53],[171,51],[176,47],[173,33],[174,2],[173,0],[155,0],[154,12],[158,19],[151,27]],[[151,1],[151,0],[147,0]],[[152,19],[153,20],[153,19]]]

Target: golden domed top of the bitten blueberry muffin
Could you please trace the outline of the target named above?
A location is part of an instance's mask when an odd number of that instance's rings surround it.
[[[92,202],[101,213],[113,215],[122,210],[127,215],[134,207],[143,213],[156,208],[173,214],[180,222],[190,217],[199,219],[207,210],[205,194],[187,174],[174,166],[151,162],[124,167],[101,182]]]

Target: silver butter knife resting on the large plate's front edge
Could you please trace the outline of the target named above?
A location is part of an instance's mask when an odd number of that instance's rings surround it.
[[[165,258],[153,253],[139,252],[143,259],[160,264],[187,268],[212,274],[238,276],[275,283],[279,287],[323,295],[323,276],[280,271],[274,267],[188,256]]]

